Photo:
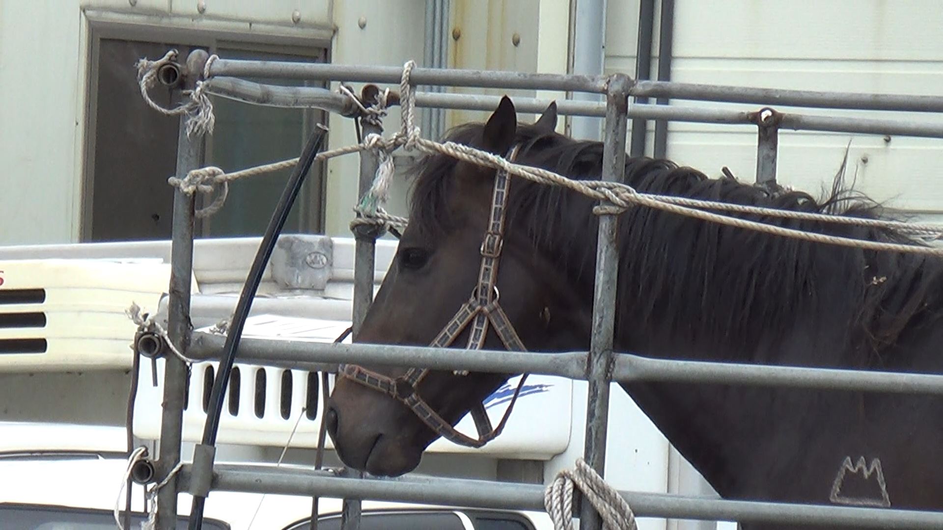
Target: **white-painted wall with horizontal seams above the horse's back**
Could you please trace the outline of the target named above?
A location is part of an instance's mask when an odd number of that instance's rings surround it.
[[[656,4],[655,13],[660,6]],[[610,0],[608,71],[635,72],[637,0]],[[943,94],[943,4],[935,0],[675,3],[671,78],[675,81],[814,91]],[[614,27],[620,31],[613,30]],[[658,24],[654,28],[657,54]],[[653,73],[657,60],[653,61]],[[756,109],[678,101],[676,105]],[[943,123],[928,113],[799,110],[807,114],[886,117]],[[649,124],[650,132],[653,123]],[[668,157],[719,175],[728,166],[744,180],[755,174],[753,126],[670,124]],[[649,135],[649,152],[653,137]],[[831,184],[851,141],[852,172],[875,199],[933,216],[943,212],[943,162],[938,140],[782,131],[778,180],[819,192]],[[867,162],[865,161],[867,159]]]

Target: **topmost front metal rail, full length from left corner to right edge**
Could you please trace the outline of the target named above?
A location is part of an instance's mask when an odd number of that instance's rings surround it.
[[[398,66],[358,66],[330,63],[277,62],[220,58],[210,76],[261,76],[288,79],[333,80],[364,83],[399,83]],[[606,75],[533,74],[493,70],[414,68],[414,85],[443,85],[483,89],[584,91],[605,93]],[[755,105],[807,108],[851,108],[907,112],[943,111],[943,96],[873,94],[838,91],[764,89],[676,81],[640,80],[630,92],[637,97],[688,99]]]

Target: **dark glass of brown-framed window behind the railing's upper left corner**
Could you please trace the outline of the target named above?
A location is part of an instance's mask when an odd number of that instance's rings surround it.
[[[201,36],[201,43],[207,38]],[[178,117],[149,108],[141,98],[135,62],[157,59],[169,49],[187,58],[197,46],[187,42],[153,42],[115,38],[93,39],[90,127],[85,171],[83,240],[155,240],[171,237],[173,193],[167,178],[176,167]],[[227,43],[201,46],[225,58],[323,60],[323,48],[298,50]],[[256,48],[256,50],[253,50]],[[257,82],[303,85],[303,81],[248,78]],[[171,91],[157,85],[150,91],[157,105],[179,105]],[[206,159],[224,171],[238,171],[286,158],[298,157],[316,123],[326,115],[319,110],[272,108],[211,96],[216,116],[214,133],[203,141]],[[195,232],[203,237],[260,236],[284,188],[290,170],[249,177],[230,185],[222,210],[197,220]],[[200,196],[198,207],[212,197]],[[286,233],[323,231],[323,165],[316,164],[295,201]]]

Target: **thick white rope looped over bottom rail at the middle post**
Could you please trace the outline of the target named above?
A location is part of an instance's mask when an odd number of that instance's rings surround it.
[[[580,489],[584,500],[599,512],[604,530],[637,530],[632,508],[583,458],[576,460],[574,470],[558,472],[554,482],[544,489],[543,505],[554,530],[573,530],[574,488]]]

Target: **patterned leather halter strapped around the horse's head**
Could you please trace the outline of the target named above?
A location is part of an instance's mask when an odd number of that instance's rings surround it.
[[[515,146],[507,159],[514,160],[517,157],[519,148],[520,146]],[[521,338],[514,330],[514,326],[507,319],[504,309],[498,304],[501,295],[496,286],[498,261],[504,246],[505,208],[509,185],[510,178],[507,172],[498,170],[494,177],[488,230],[485,232],[484,240],[481,243],[481,268],[478,273],[478,284],[472,291],[472,297],[469,301],[459,307],[458,311],[455,312],[455,316],[439,332],[438,337],[432,341],[430,346],[448,347],[471,323],[472,329],[469,333],[468,349],[480,350],[484,347],[485,338],[488,335],[488,323],[490,323],[508,350],[515,352],[527,351],[523,342],[521,342]],[[410,368],[404,375],[393,378],[382,373],[372,372],[355,364],[341,364],[338,372],[357,383],[384,392],[397,401],[404,403],[436,434],[444,439],[468,447],[481,447],[501,434],[507,419],[511,415],[511,410],[518,400],[524,381],[527,379],[527,374],[524,373],[521,376],[521,382],[518,383],[518,388],[514,390],[514,396],[507,406],[505,416],[497,427],[491,427],[491,421],[488,419],[488,412],[485,411],[484,404],[479,403],[472,406],[472,420],[474,420],[475,429],[478,431],[478,438],[473,439],[458,432],[451,423],[446,422],[420,397],[417,387],[426,374],[430,372],[429,369]],[[464,375],[467,372],[455,373]]]

